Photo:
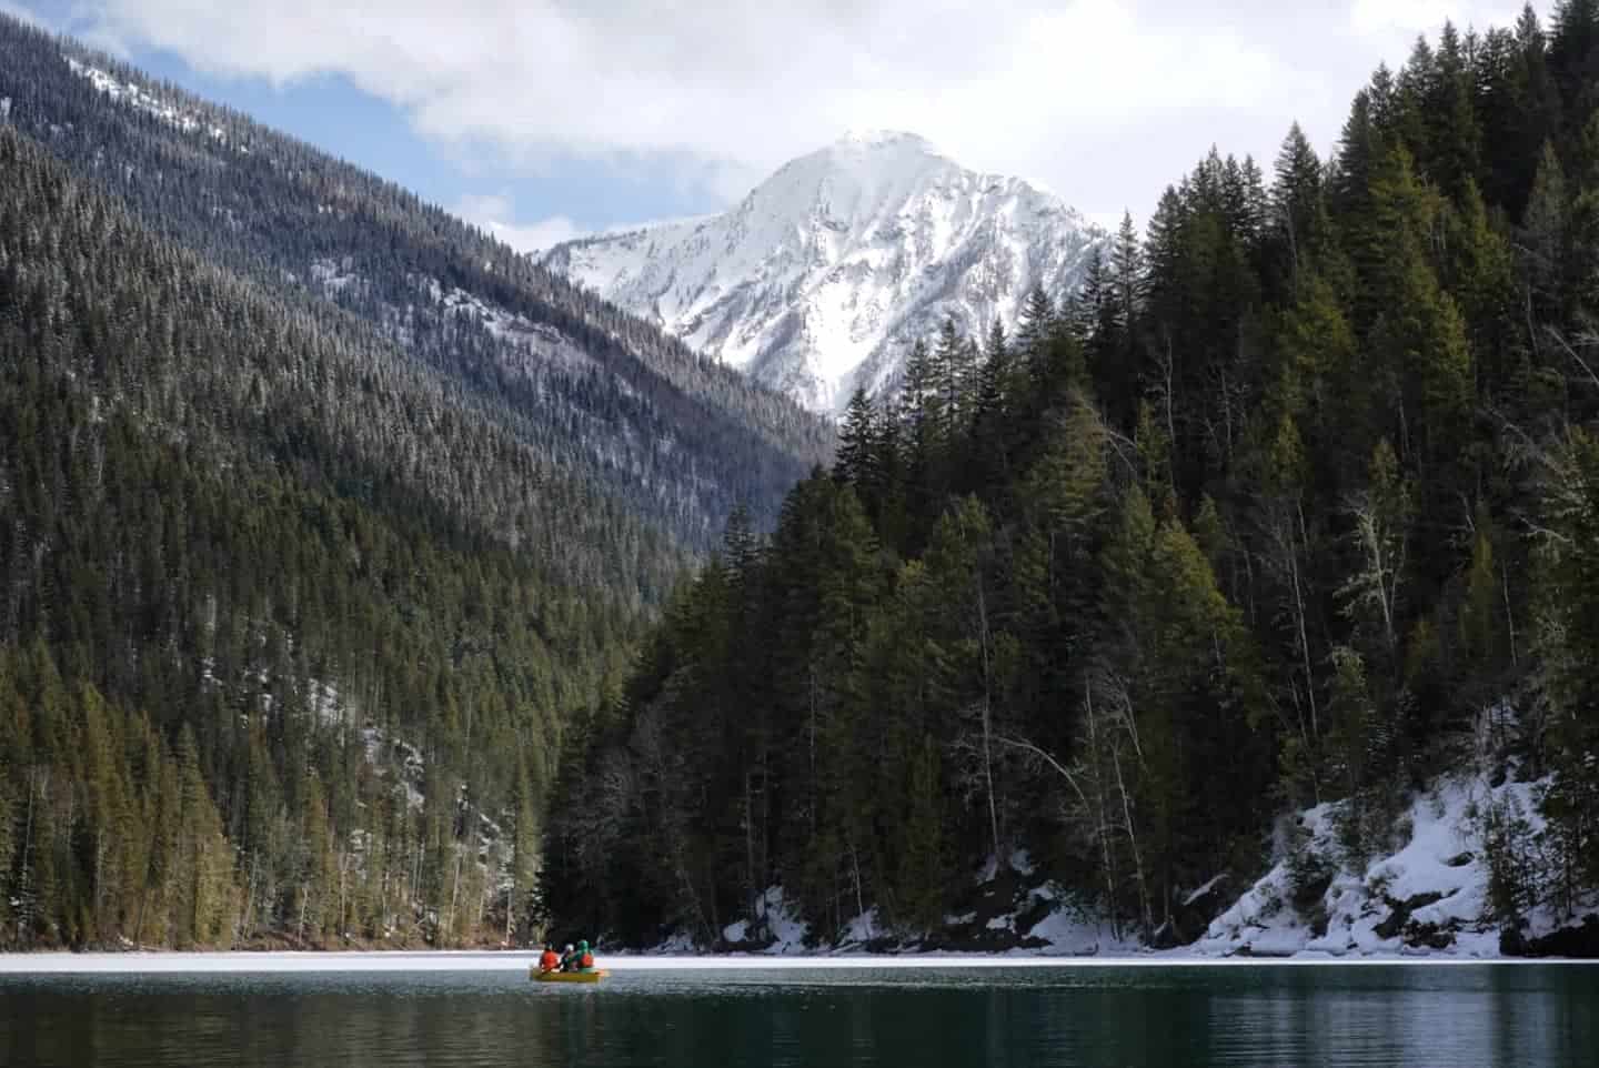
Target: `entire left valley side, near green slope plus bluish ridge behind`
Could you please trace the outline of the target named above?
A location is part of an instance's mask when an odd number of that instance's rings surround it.
[[[831,430],[0,16],[0,946],[524,940],[563,737]]]

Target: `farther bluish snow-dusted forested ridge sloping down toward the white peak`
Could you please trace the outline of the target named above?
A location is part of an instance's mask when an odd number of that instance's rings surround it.
[[[416,195],[5,16],[0,99],[146,225],[350,310],[696,550],[739,502],[769,523],[828,452],[792,401]]]

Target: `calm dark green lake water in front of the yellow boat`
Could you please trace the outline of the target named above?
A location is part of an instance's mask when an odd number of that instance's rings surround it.
[[[1599,967],[0,975],[24,1065],[1599,1065]]]

